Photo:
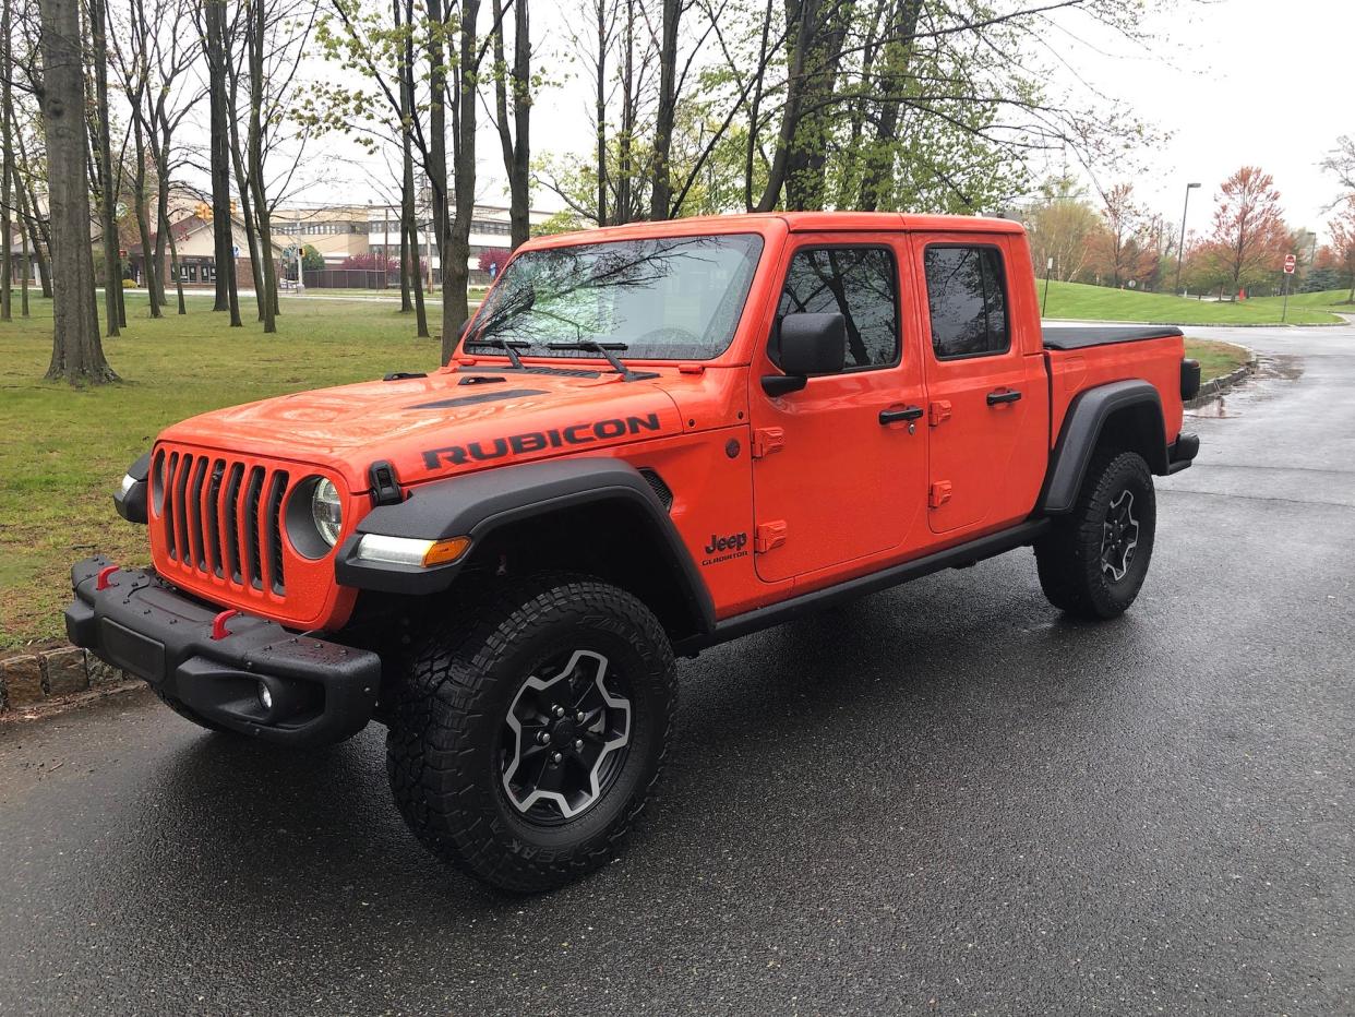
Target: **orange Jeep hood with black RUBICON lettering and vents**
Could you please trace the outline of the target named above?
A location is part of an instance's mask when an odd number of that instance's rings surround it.
[[[381,460],[409,484],[680,433],[676,403],[653,381],[450,369],[215,410],[160,439],[329,466],[364,491]]]

